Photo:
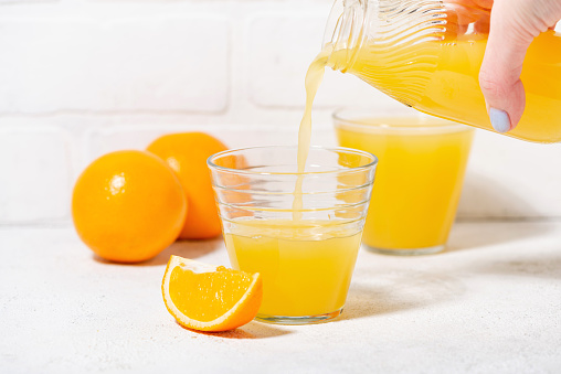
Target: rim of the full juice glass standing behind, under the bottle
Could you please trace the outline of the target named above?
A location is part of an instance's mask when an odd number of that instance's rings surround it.
[[[413,109],[410,109],[413,110]],[[366,124],[360,119],[352,119],[350,116],[346,116],[345,114],[364,114],[364,117],[372,119],[388,119],[388,118],[411,118],[411,119],[420,119],[419,124],[414,125],[404,125],[404,126],[392,126],[388,124]],[[352,126],[357,128],[370,128],[370,129],[380,129],[385,131],[435,131],[435,132],[463,132],[463,131],[474,131],[475,129],[459,122],[455,122],[449,119],[444,119],[435,116],[431,116],[428,114],[422,111],[409,111],[405,114],[400,113],[384,113],[383,110],[360,108],[360,107],[342,107],[334,110],[331,114],[331,118],[334,119],[335,127],[342,126]],[[423,124],[425,119],[432,120],[432,125]],[[436,124],[435,124],[436,121]]]

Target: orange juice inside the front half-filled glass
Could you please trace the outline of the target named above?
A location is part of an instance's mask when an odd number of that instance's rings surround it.
[[[257,317],[340,313],[360,247],[360,229],[338,221],[242,218],[231,224],[224,241],[232,266],[263,277]]]

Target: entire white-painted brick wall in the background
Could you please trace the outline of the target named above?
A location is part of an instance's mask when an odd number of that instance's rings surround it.
[[[295,143],[330,4],[0,0],[0,224],[68,223],[72,184],[88,162],[161,133]],[[334,145],[331,111],[356,104],[400,107],[329,71],[313,142]],[[560,145],[478,131],[459,215],[561,217]]]

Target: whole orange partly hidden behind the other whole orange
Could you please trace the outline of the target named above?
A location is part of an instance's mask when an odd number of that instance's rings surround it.
[[[187,194],[189,211],[180,238],[203,239],[220,235],[220,218],[207,159],[226,149],[220,140],[203,132],[165,135],[148,146],[148,151],[159,156],[176,171]]]

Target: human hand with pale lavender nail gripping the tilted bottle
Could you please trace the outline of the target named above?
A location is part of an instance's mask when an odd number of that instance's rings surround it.
[[[470,1],[493,6],[479,85],[493,127],[506,132],[518,125],[526,106],[520,81],[526,51],[536,36],[561,19],[561,0]]]

